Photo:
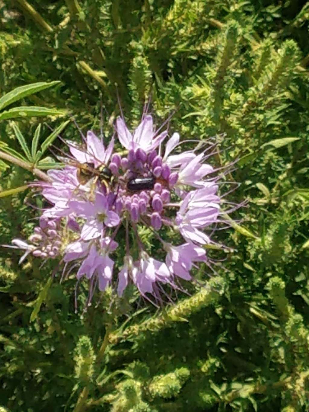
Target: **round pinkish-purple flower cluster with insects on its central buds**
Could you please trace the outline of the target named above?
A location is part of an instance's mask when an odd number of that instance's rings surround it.
[[[39,183],[52,206],[43,211],[29,243],[19,239],[13,243],[26,250],[23,258],[32,253],[61,259],[64,270],[68,265],[78,267],[77,279],[85,276],[90,281],[89,300],[96,286],[103,291],[116,283],[122,296],[129,282],[144,297],[158,298],[162,284],[179,288],[178,278],[189,281],[196,262],[208,263],[203,245],[212,241],[205,228],[220,221],[218,176],[205,163],[209,147],[179,152],[178,133],[164,145],[168,132],[155,130],[151,115],[144,114],[133,133],[118,117],[116,131],[122,152],[114,152],[114,138],[105,148],[92,131],[84,138],[84,149],[68,143],[68,159],[75,163],[49,170],[51,182]],[[141,225],[161,243],[165,262],[146,252],[139,236]],[[175,246],[164,241],[165,228],[178,232],[176,239],[183,242]],[[126,253],[115,273],[110,255],[119,247]]]

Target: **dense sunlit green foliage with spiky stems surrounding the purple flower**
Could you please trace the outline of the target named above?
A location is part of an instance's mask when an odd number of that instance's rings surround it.
[[[50,281],[56,265],[19,266],[19,251],[2,248],[0,410],[309,410],[309,3],[30,3],[0,1],[1,96],[60,80],[23,106],[66,109],[98,130],[102,96],[111,136],[117,93],[134,127],[151,92],[157,123],[176,110],[170,131],[216,136],[213,164],[236,162],[227,179],[240,185],[228,198],[248,204],[232,214],[240,226],[214,235],[234,251],[209,250],[218,260],[210,286],[190,286],[166,311],[132,288],[75,314],[74,274]],[[54,128],[66,120],[56,114],[45,119]],[[1,143],[20,152],[18,124],[31,147],[39,122],[2,120]],[[41,133],[40,143],[50,130]],[[77,139],[75,126],[63,136]],[[33,179],[0,167],[1,190]],[[0,243],[31,233],[25,201],[42,206],[29,191],[0,199]],[[140,235],[154,251],[151,232]]]

